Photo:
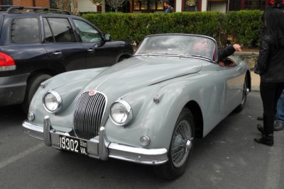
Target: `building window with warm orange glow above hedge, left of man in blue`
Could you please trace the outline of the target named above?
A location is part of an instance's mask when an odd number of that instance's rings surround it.
[[[141,12],[163,11],[163,1],[133,0],[133,11],[141,11]]]

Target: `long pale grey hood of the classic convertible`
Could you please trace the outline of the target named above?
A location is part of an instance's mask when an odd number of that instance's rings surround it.
[[[136,88],[197,73],[204,62],[207,61],[182,57],[131,57],[95,76],[83,91],[128,93]]]

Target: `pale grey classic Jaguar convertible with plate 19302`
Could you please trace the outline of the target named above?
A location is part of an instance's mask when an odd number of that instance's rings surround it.
[[[118,64],[44,81],[23,130],[48,147],[155,165],[159,176],[177,178],[195,137],[242,110],[251,88],[246,62],[230,56],[220,66],[217,57],[207,36],[149,35]]]

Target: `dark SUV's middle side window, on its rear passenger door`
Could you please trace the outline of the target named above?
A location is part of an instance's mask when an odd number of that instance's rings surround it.
[[[44,18],[45,42],[76,42],[67,18]]]

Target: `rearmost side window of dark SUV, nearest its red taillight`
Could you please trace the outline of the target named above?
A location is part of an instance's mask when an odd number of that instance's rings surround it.
[[[12,42],[40,42],[38,18],[15,18],[11,25]]]

